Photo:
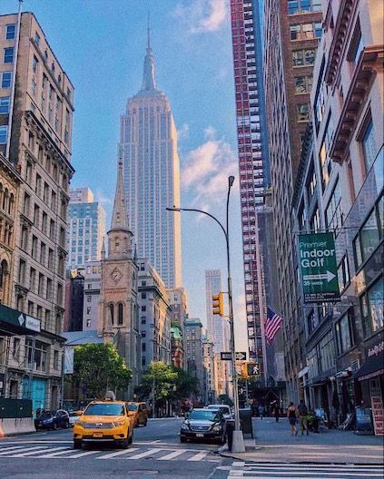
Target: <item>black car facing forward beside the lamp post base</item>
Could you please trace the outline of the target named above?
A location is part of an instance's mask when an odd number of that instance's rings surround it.
[[[222,412],[210,409],[192,409],[180,430],[180,442],[188,439],[213,440],[225,443],[226,423]]]

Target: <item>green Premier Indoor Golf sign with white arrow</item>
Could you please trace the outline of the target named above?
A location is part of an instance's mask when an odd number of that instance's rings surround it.
[[[339,299],[333,233],[300,234],[299,258],[304,303]]]

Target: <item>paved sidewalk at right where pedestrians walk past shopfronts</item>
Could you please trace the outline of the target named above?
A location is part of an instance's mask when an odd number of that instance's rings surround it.
[[[319,434],[290,435],[286,418],[253,418],[255,440],[246,439],[242,454],[220,450],[220,455],[240,461],[287,463],[383,464],[384,438],[354,435],[352,431],[331,429]]]

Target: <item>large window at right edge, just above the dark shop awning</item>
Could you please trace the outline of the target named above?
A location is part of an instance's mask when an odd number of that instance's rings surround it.
[[[364,336],[369,337],[383,327],[383,277],[360,296]]]

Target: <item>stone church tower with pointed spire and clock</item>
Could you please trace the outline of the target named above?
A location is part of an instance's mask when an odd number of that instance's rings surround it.
[[[137,307],[137,265],[133,258],[133,233],[130,230],[123,192],[123,163],[119,159],[111,230],[107,232],[108,254],[102,249],[102,286],[99,302],[98,332],[104,342],[113,343],[127,366],[133,370],[133,387],[139,382],[140,343]]]

